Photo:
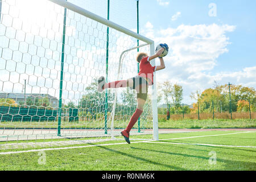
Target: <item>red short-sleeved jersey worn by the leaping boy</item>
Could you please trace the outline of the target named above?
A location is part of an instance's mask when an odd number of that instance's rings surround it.
[[[147,78],[148,85],[153,85],[153,77],[156,67],[152,67],[149,62],[149,57],[144,57],[139,63],[139,73],[138,75]]]

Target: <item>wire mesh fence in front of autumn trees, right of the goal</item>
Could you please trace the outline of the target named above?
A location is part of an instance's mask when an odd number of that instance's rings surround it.
[[[256,104],[250,100],[201,101],[168,104],[158,108],[162,119],[256,119]]]

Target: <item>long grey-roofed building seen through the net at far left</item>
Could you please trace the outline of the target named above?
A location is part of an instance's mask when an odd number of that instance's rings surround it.
[[[59,100],[49,94],[26,93],[25,97],[25,94],[23,93],[0,93],[0,98],[11,98],[16,102],[16,104],[24,103],[27,98],[31,98],[32,101],[34,101],[35,98],[42,99],[46,97],[48,97],[51,107],[54,108],[59,105]]]

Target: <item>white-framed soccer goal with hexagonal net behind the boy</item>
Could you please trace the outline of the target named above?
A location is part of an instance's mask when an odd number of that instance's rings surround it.
[[[65,0],[0,0],[0,150],[123,140],[136,93],[99,93],[97,79],[137,75],[138,49],[152,55],[154,42]],[[158,140],[148,91],[131,141]]]

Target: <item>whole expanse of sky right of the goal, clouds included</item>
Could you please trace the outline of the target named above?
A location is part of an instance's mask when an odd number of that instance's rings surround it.
[[[159,72],[158,77],[183,85],[184,102],[192,102],[189,94],[212,87],[214,80],[221,85],[233,82],[256,88],[256,1],[140,0],[139,3],[141,34],[174,48],[174,54],[165,58],[166,70]],[[211,3],[216,7],[216,16],[209,15]],[[214,39],[207,40],[209,37]],[[177,46],[179,42],[173,40],[176,38],[180,42],[191,41]],[[184,52],[181,47],[188,49]],[[189,67],[193,69],[190,73]]]

